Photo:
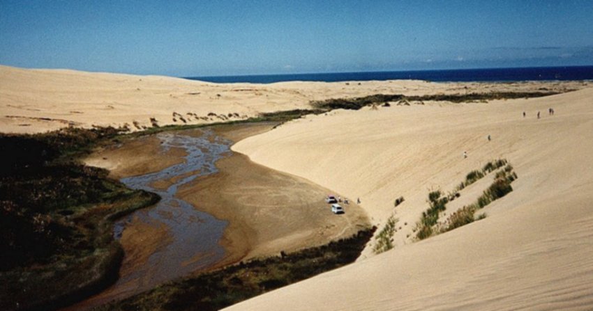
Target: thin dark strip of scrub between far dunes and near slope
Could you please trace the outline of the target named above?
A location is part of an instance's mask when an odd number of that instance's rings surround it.
[[[491,92],[491,93],[468,93],[468,94],[437,94],[437,95],[422,95],[422,96],[405,96],[401,94],[375,94],[364,97],[354,98],[336,98],[326,99],[322,101],[310,102],[315,109],[331,110],[331,109],[350,109],[359,110],[364,106],[379,105],[386,102],[403,102],[409,104],[410,102],[424,102],[426,100],[438,102],[484,102],[493,99],[514,99],[514,98],[530,98],[543,97],[548,95],[556,95],[557,92]]]

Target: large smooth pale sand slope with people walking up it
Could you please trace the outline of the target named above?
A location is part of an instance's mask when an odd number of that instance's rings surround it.
[[[548,107],[556,114],[549,116]],[[395,198],[406,201],[396,210],[403,229],[395,249],[377,256],[367,250],[368,258],[355,264],[230,310],[593,306],[593,89],[489,104],[337,111],[287,123],[233,149],[361,197],[380,225]],[[486,219],[417,243],[406,238],[428,207],[429,189],[449,191],[498,157],[511,162],[519,179],[512,193],[486,207]],[[479,192],[466,189],[461,198]]]

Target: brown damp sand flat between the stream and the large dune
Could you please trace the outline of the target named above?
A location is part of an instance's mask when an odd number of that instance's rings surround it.
[[[344,205],[345,214],[332,214],[324,202],[330,190],[254,164],[243,154],[221,159],[217,167],[220,173],[183,186],[179,196],[229,221],[225,262],[319,246],[368,223],[352,203]]]

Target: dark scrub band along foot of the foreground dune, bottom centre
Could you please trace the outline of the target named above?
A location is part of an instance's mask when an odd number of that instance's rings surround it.
[[[292,254],[241,262],[169,282],[98,310],[220,310],[272,289],[354,262],[376,228]]]

